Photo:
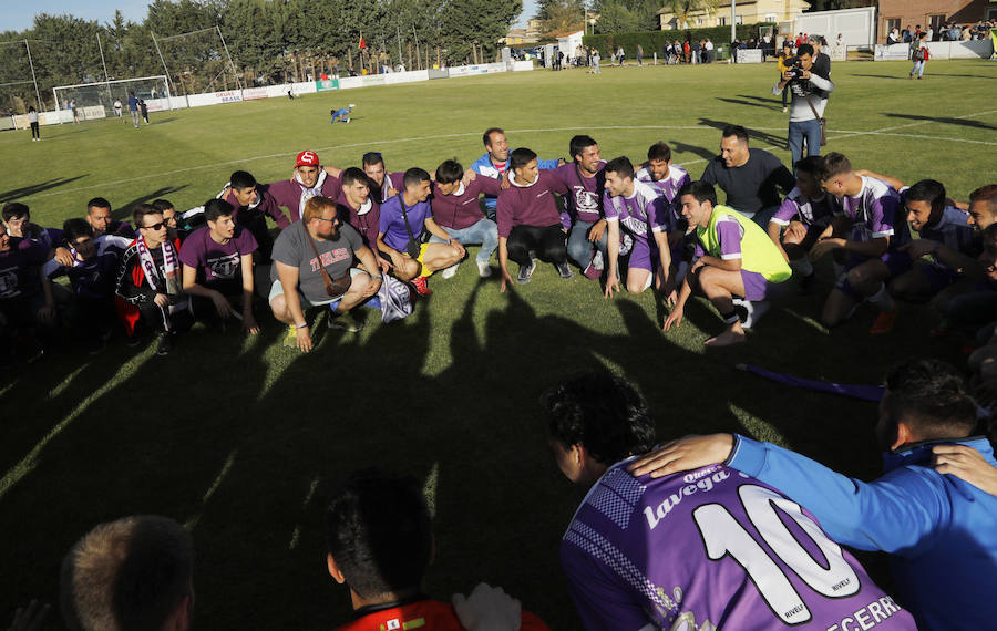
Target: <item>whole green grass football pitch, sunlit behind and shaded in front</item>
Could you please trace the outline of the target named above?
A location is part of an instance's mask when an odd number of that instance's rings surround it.
[[[938,179],[959,200],[997,182],[997,63],[933,61],[924,81],[908,71],[835,62],[824,153],[908,184]],[[635,163],[666,141],[696,179],[728,123],[789,162],[775,80],[772,63],[535,71],[158,112],[138,131],[127,117],[43,127],[41,143],[6,132],[0,203],[23,201],[55,227],[94,196],[121,219],[160,197],[183,210],[237,169],[290,177],[306,148],[340,167],[368,151],[389,170],[453,157],[467,167],[493,125],[544,158],[567,157],[579,133],[605,159]],[[329,110],[348,103],[353,122],[330,125]],[[554,629],[577,628],[557,549],[586,489],[554,464],[544,391],[608,370],[648,400],[659,439],[740,432],[868,479],[880,462],[874,404],[787,389],[736,364],[874,384],[904,359],[960,361],[952,342],[928,335],[931,313],[917,306],[901,304],[887,335],[868,335],[874,313],[863,309],[821,327],[826,261],[813,296],[791,292],[747,343],[710,351],[702,342],[721,321],[701,299],[662,333],[667,310],[650,292],[606,300],[597,283],[561,280],[542,263],[530,285],[500,294],[497,275],[476,271],[465,261],[452,279],[431,278],[433,296],[401,322],[361,310],[361,333],[327,329],[319,314],[308,354],[281,346],[285,329],[260,303],[254,338],[197,325],[166,358],[115,339],[95,356],[72,348],[0,372],[0,616],[31,598],[56,603],[61,558],[93,525],[153,513],[193,532],[196,628],[335,627],[350,607],[326,571],[326,499],[350,472],[379,466],[424,480],[431,596],[485,580]],[[888,586],[882,559],[863,560]]]

